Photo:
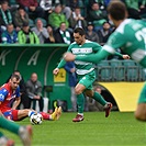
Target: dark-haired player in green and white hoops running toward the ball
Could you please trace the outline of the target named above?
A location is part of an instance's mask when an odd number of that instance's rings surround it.
[[[74,38],[75,42],[70,44],[68,47],[68,52],[71,52],[72,54],[92,54],[97,53],[101,49],[101,46],[94,42],[88,41],[85,37],[86,33],[81,27],[77,27],[74,31]],[[127,55],[121,55],[119,53],[115,53],[116,55],[120,55],[121,57],[127,57]],[[57,75],[59,72],[59,68],[64,67],[66,61],[61,59],[57,68],[54,69],[53,74]],[[75,92],[77,94],[77,106],[78,106],[78,114],[75,119],[72,119],[72,122],[80,122],[83,121],[83,105],[85,105],[85,97],[83,93],[87,97],[93,98],[96,101],[101,103],[104,106],[105,110],[105,117],[109,116],[110,110],[112,108],[112,103],[106,102],[103,97],[94,92],[92,90],[92,83],[96,80],[96,72],[93,68],[93,64],[91,63],[83,63],[83,61],[75,61],[76,65],[76,72],[78,76],[78,83],[75,87]]]

